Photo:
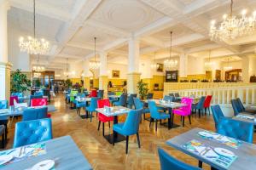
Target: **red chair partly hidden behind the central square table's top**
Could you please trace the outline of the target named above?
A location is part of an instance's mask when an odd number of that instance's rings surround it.
[[[98,104],[98,108],[103,108],[104,106],[110,106],[109,99],[99,99],[97,101],[97,104]],[[99,120],[98,130],[100,130],[101,122],[102,122],[102,134],[104,136],[104,122],[108,122],[108,125],[110,127],[110,121],[113,121],[113,116],[105,116],[105,115],[102,115],[102,113],[99,113],[98,120]]]

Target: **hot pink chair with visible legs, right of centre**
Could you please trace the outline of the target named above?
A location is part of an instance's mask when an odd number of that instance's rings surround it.
[[[182,104],[186,104],[185,106],[179,108],[179,109],[174,109],[172,110],[172,122],[173,122],[173,117],[174,114],[175,115],[179,115],[182,116],[182,121],[183,121],[183,127],[184,127],[184,120],[185,120],[185,116],[189,116],[189,123],[191,124],[191,119],[190,119],[190,115],[191,115],[191,109],[192,109],[192,104],[193,104],[193,99],[190,98],[183,98],[181,100]]]

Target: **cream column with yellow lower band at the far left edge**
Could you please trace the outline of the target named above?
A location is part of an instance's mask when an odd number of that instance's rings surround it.
[[[0,99],[9,99],[10,94],[10,68],[8,62],[8,32],[7,11],[9,3],[0,0]]]

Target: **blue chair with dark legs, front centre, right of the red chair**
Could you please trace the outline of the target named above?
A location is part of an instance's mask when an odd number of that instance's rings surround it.
[[[129,143],[129,136],[133,134],[137,134],[137,144],[140,148],[140,137],[139,137],[139,124],[142,116],[142,109],[140,110],[131,110],[129,111],[125,122],[114,124],[113,125],[113,136],[114,133],[119,133],[126,136],[126,154],[128,153],[128,143]],[[114,138],[113,138],[113,145],[114,145]]]

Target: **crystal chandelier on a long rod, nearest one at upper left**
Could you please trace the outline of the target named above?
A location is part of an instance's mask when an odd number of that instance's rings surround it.
[[[45,41],[44,38],[38,40],[36,38],[36,3],[33,0],[33,9],[34,9],[34,27],[33,27],[33,36],[27,37],[27,40],[24,37],[20,37],[20,51],[26,52],[27,54],[47,54],[49,52],[49,42]]]

